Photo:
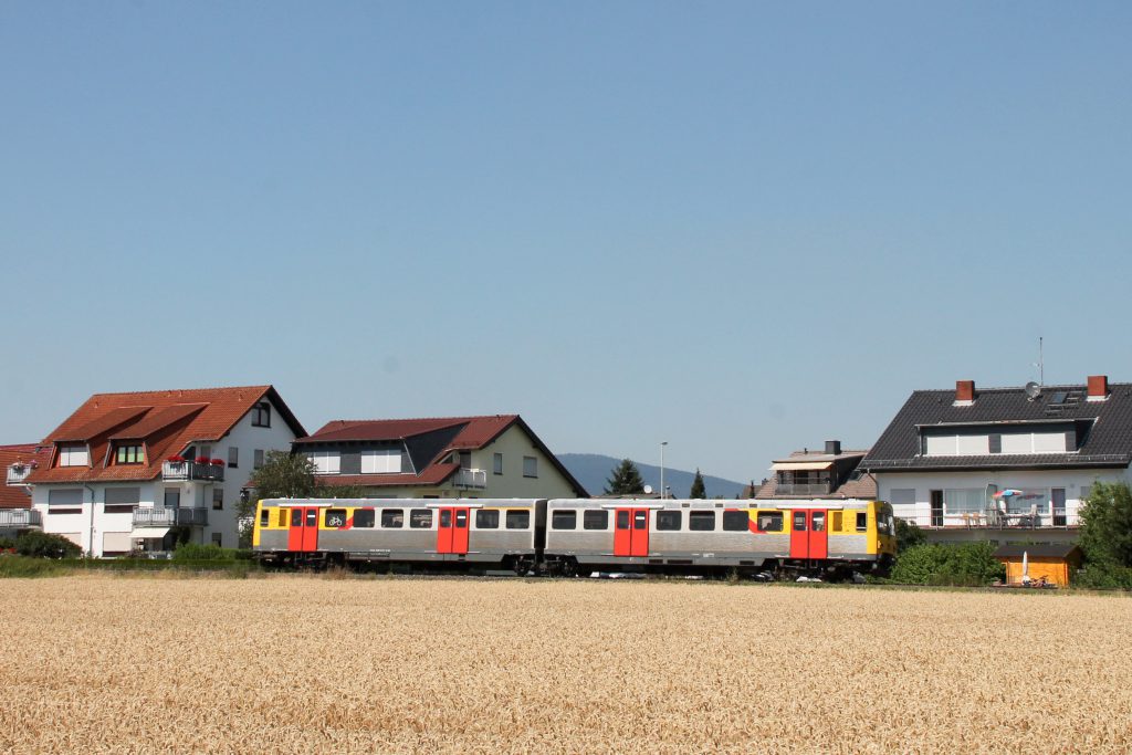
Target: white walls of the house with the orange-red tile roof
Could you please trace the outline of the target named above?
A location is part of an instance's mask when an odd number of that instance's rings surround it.
[[[239,541],[239,531],[235,521],[235,505],[240,499],[240,489],[243,488],[252,473],[252,462],[255,451],[289,451],[294,434],[288,423],[280,417],[276,406],[272,406],[272,422],[269,428],[252,427],[251,412],[245,414],[232,428],[231,432],[217,441],[197,443],[199,449],[201,445],[211,445],[211,455],[228,461],[229,447],[235,446],[239,451],[237,467],[225,464],[224,481],[214,482],[163,482],[157,480],[148,481],[106,481],[83,483],[54,483],[37,484],[32,491],[32,506],[41,512],[43,516],[43,531],[61,534],[78,544],[84,552],[94,557],[104,555],[117,555],[123,550],[122,543],[129,539],[129,533],[134,530],[132,513],[108,514],[105,512],[106,490],[109,488],[140,488],[140,500],[138,506],[164,506],[165,491],[169,489],[180,490],[180,507],[204,507],[208,511],[208,525],[205,527],[192,527],[194,541],[201,543],[215,542],[214,535],[220,537],[220,543],[225,548],[234,548]],[[80,488],[83,490],[83,504],[78,514],[51,514],[48,506],[50,491],[60,488]],[[213,508],[213,491],[223,491],[222,508]],[[128,547],[125,548],[128,550]]]

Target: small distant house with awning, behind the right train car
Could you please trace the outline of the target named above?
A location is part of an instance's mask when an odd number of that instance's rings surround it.
[[[843,451],[840,440],[826,440],[822,451],[804,448],[771,464],[773,475],[754,498],[876,498],[876,481],[857,471],[867,451]]]

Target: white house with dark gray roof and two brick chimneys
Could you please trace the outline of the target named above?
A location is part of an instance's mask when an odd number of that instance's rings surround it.
[[[1092,484],[1129,481],[1132,385],[916,391],[860,463],[929,540],[1070,542]]]

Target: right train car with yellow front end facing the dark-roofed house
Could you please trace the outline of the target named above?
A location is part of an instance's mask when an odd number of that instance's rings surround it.
[[[550,570],[884,572],[892,507],[877,500],[602,500],[547,504]]]

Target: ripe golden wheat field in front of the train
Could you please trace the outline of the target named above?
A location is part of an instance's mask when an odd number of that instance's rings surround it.
[[[1127,598],[6,580],[14,753],[1127,752]]]

